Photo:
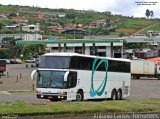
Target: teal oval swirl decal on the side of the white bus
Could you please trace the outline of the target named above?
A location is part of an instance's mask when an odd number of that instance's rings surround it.
[[[104,89],[106,87],[106,83],[107,83],[107,72],[108,72],[108,60],[107,59],[101,59],[100,62],[97,64],[96,63],[98,61],[98,58],[95,58],[95,60],[93,61],[93,65],[92,65],[92,78],[91,78],[91,88],[90,88],[90,96],[94,97],[96,95],[101,96],[104,92]],[[104,63],[105,65],[105,77],[101,83],[101,85],[98,87],[98,89],[94,89],[94,74],[96,72],[96,70],[98,69],[98,67],[100,66],[100,64]]]

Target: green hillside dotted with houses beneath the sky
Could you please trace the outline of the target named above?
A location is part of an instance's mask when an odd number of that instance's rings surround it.
[[[36,16],[36,15],[39,16]],[[41,34],[48,37],[49,35],[60,35],[58,31],[49,31],[48,27],[66,27],[72,25],[71,28],[84,29],[87,33],[97,35],[120,34],[131,35],[139,30],[140,33],[146,33],[147,30],[160,30],[159,21],[156,19],[132,18],[120,15],[111,15],[110,12],[95,12],[73,9],[48,9],[18,5],[0,5],[0,33],[24,33],[22,31],[8,31],[7,25],[15,24],[17,16],[23,16],[23,20],[27,20],[25,24],[39,23]],[[60,16],[61,15],[61,16]],[[62,15],[64,15],[62,17]],[[3,17],[5,16],[5,17]],[[105,26],[91,28],[89,25],[96,20],[104,20]],[[149,27],[152,26],[152,27]]]

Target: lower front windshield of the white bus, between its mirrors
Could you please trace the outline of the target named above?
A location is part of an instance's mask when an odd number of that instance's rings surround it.
[[[64,88],[64,74],[60,71],[38,71],[38,88]]]

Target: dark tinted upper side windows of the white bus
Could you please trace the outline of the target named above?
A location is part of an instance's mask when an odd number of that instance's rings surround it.
[[[79,69],[79,70],[92,70],[93,61],[95,58],[88,58],[88,57],[79,57],[74,56],[71,57],[70,68],[71,69]],[[98,59],[96,62],[97,66],[101,59]],[[97,71],[106,71],[105,63],[102,62]],[[117,60],[108,60],[108,71],[111,72],[130,72],[130,62],[125,61],[117,61]]]

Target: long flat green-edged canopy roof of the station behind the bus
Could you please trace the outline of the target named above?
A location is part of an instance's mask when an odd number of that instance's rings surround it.
[[[124,43],[125,38],[110,38],[110,39],[66,39],[66,40],[18,40],[17,45],[33,45],[33,44],[82,44],[82,43]]]

